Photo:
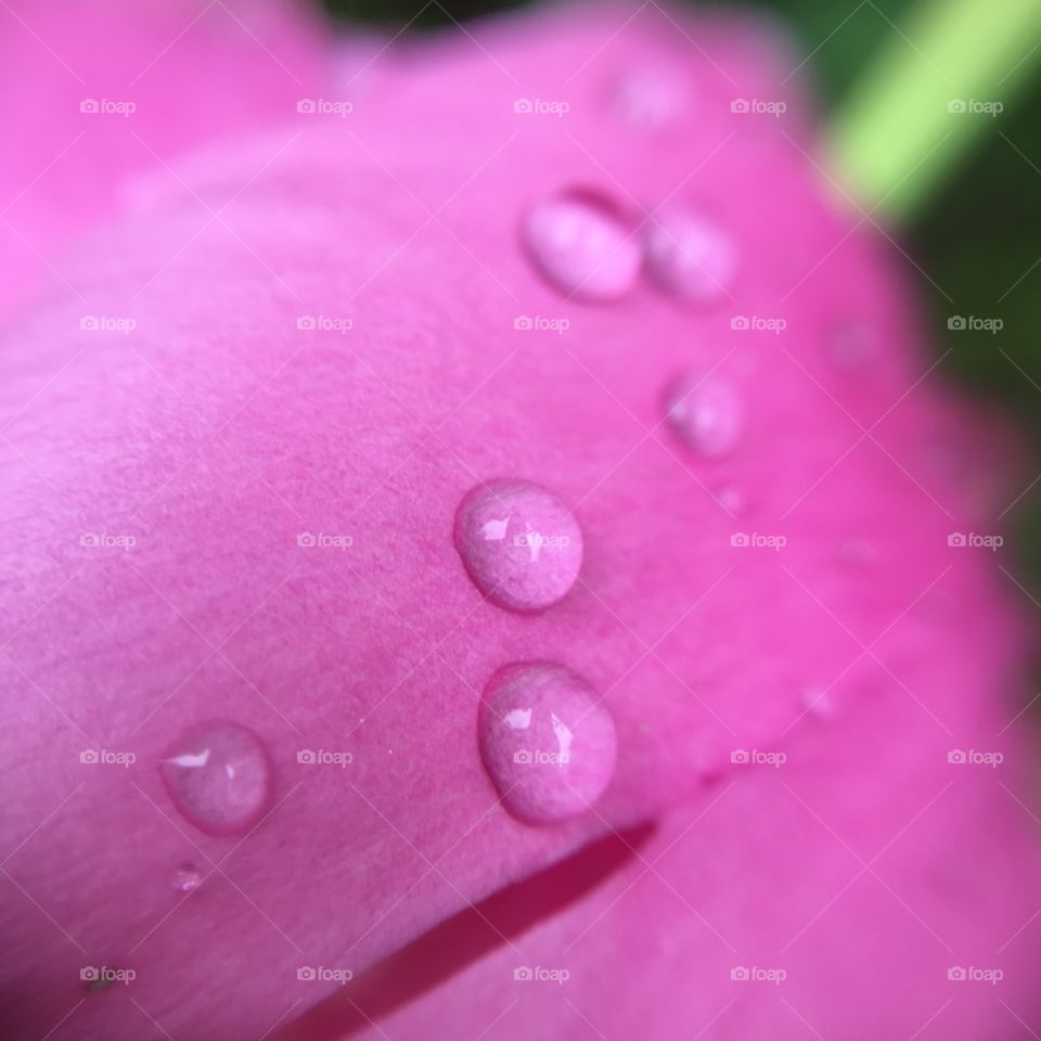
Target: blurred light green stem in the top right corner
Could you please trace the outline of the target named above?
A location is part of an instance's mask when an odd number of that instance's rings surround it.
[[[839,181],[865,206],[907,220],[994,131],[1001,112],[986,106],[1007,108],[1038,57],[1041,0],[920,0],[835,117]]]

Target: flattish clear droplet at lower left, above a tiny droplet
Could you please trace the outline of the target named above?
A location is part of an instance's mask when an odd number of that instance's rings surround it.
[[[183,734],[159,761],[178,810],[209,835],[242,835],[267,812],[271,760],[260,738],[239,723],[211,721]]]

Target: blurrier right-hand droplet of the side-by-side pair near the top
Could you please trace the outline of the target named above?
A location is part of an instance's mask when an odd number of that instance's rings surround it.
[[[667,206],[648,224],[646,262],[663,288],[702,304],[729,294],[736,249],[731,236],[705,214]]]

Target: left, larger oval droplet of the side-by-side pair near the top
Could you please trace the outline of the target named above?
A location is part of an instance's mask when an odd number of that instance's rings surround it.
[[[640,277],[639,236],[621,213],[593,192],[573,191],[536,206],[524,240],[539,270],[569,296],[613,300]]]

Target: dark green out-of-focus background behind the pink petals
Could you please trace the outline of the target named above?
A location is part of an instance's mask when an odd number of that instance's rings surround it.
[[[409,31],[420,33],[450,26],[453,20],[465,22],[524,5],[509,0],[432,0],[424,9],[425,2],[325,0],[325,7],[339,17],[391,30],[411,23]],[[993,3],[1000,16],[1001,0]],[[730,0],[720,5],[780,15],[802,50],[813,52],[808,68],[827,111],[836,108],[877,48],[897,36],[889,23],[899,25],[911,7],[908,0],[760,0],[756,4]],[[976,393],[1015,410],[1037,459],[1041,454],[1041,47],[1031,61],[1034,69],[1027,88],[993,120],[972,155],[949,172],[902,235],[908,252],[954,300],[950,304],[927,280],[921,280],[920,292],[934,314],[937,349],[951,348],[944,361],[948,371]],[[997,334],[951,333],[947,319],[952,313],[1000,318],[1004,327]],[[1013,526],[1017,553],[1041,599],[1041,481],[1014,511]]]

